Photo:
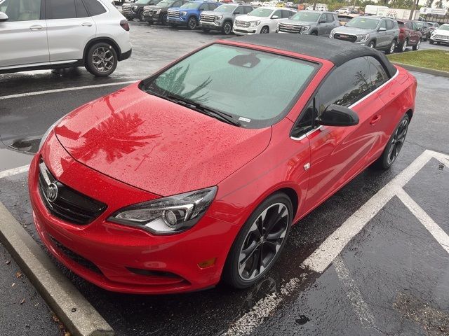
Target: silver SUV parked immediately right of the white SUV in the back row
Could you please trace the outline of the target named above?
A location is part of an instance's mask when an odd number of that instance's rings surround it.
[[[339,27],[337,14],[321,10],[301,10],[279,24],[279,33],[326,35]]]

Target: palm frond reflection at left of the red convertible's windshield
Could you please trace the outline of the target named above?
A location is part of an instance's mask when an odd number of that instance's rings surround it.
[[[187,73],[189,72],[189,66],[186,66],[182,71],[182,66],[177,66],[165,73],[161,74],[158,78],[156,78],[156,85],[159,87],[159,90],[163,90],[169,92],[170,94],[176,94],[177,96],[194,100],[194,102],[204,103],[208,100],[206,94],[208,92],[204,92],[203,94],[199,94],[194,97],[195,94],[203,90],[206,86],[212,83],[212,79],[210,77],[206,78],[200,85],[195,87],[193,90],[183,92],[185,90],[185,78]]]

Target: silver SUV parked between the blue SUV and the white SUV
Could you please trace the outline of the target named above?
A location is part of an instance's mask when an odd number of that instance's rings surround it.
[[[253,6],[239,3],[227,3],[214,10],[206,10],[199,17],[199,25],[207,33],[210,30],[220,30],[223,34],[232,33],[232,25],[237,16],[252,12]]]

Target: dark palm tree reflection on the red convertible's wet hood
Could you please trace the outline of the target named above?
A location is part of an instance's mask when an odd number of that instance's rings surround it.
[[[124,111],[112,113],[83,136],[83,144],[72,150],[75,158],[90,160],[100,151],[106,153],[108,163],[123,157],[138,148],[149,144],[149,139],[161,137],[161,134],[136,135],[144,120],[137,113],[127,114]],[[89,139],[89,141],[86,141]]]

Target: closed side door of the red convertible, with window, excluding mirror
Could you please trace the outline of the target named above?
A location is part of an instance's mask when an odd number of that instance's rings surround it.
[[[315,127],[307,134],[310,141],[310,178],[305,212],[316,207],[368,165],[367,155],[379,144],[373,128],[383,102],[372,92],[368,59],[358,57],[342,64],[326,78],[312,106],[319,116],[330,104],[351,108],[358,125]],[[315,119],[315,118],[313,118]]]

